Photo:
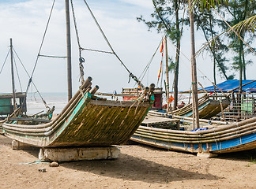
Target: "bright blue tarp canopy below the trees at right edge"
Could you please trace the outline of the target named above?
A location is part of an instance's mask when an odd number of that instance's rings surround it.
[[[252,82],[254,80],[242,80],[242,85]],[[223,92],[228,92],[236,87],[239,87],[239,80],[226,80],[222,83],[216,84],[216,86]],[[220,90],[215,87],[216,92],[220,92]],[[205,90],[208,92],[214,92],[214,86],[205,87]],[[202,89],[198,89],[198,91],[203,91]],[[234,90],[235,92],[239,91],[239,88]],[[252,83],[249,83],[242,87],[242,91],[245,92],[256,92],[256,80]]]

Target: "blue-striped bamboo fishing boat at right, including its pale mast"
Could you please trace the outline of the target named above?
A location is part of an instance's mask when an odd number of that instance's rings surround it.
[[[183,109],[172,112],[173,117],[175,114],[186,115],[187,117],[179,117],[181,120],[189,118],[192,120],[192,129],[190,127],[173,126],[176,120],[173,120],[172,124],[165,124],[164,121],[147,120],[141,124],[131,140],[138,143],[145,143],[150,146],[156,146],[168,150],[179,150],[190,153],[208,153],[208,154],[222,154],[231,153],[242,150],[256,149],[256,117],[243,120],[237,123],[224,125],[213,125],[212,120],[208,120],[209,123],[205,125],[200,124],[200,106],[207,104],[209,96],[203,96],[198,99],[198,80],[197,69],[195,61],[195,49],[194,49],[194,15],[193,9],[190,5],[190,35],[191,35],[191,72],[192,72],[192,97],[193,105],[185,106]],[[216,87],[216,86],[214,86]],[[216,87],[217,88],[217,87]],[[167,95],[168,97],[168,95]],[[169,102],[167,100],[167,102]],[[199,108],[198,108],[199,107]],[[205,106],[206,107],[206,106]],[[224,108],[224,107],[223,107]],[[193,109],[193,112],[190,110]],[[156,113],[158,116],[168,113]],[[171,112],[170,112],[171,113]],[[207,114],[211,112],[206,111]],[[193,118],[190,118],[193,116]],[[167,115],[167,117],[169,117]],[[159,117],[160,120],[163,119]],[[171,120],[170,119],[170,120]],[[156,121],[156,124],[153,124]],[[151,123],[151,124],[149,124]],[[210,156],[209,156],[210,157]]]

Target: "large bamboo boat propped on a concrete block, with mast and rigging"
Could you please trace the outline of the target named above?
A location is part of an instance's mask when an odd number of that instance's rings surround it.
[[[88,6],[86,2],[85,4]],[[66,19],[69,20],[68,0],[66,0],[66,13]],[[93,18],[95,19],[94,16]],[[67,21],[67,33],[70,34],[68,23],[69,21]],[[67,36],[67,51],[70,52],[70,35]],[[105,35],[104,38],[107,39]],[[69,65],[69,53],[67,59]],[[84,59],[80,56],[79,60],[82,64]],[[84,80],[82,67],[83,65],[80,66],[81,86],[57,117],[52,118],[53,109],[35,117],[22,115],[10,117],[2,126],[5,135],[29,146],[47,148],[110,146],[125,143],[130,139],[148,113],[149,107],[152,106],[154,85],[150,88],[144,87],[125,67],[130,73],[129,76],[137,80],[143,91],[136,101],[111,101],[95,95],[99,87],[91,87],[91,77]],[[68,80],[70,82],[70,77]],[[70,86],[68,88],[70,89]],[[70,95],[72,93],[70,94],[69,91]]]

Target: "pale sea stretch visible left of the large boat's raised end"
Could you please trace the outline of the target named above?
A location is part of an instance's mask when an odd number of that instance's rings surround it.
[[[66,106],[67,94],[63,93],[40,93],[47,106],[52,108],[55,106],[54,114],[61,113],[62,109]],[[43,100],[38,93],[28,93],[27,95],[27,114],[33,115],[36,113],[47,112],[47,108],[43,104]]]

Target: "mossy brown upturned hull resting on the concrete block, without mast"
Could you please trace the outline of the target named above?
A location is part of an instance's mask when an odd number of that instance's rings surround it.
[[[153,98],[153,96],[152,96]],[[3,124],[5,135],[31,146],[109,146],[125,143],[149,111],[150,102],[92,100],[86,93],[73,109],[48,124]]]

